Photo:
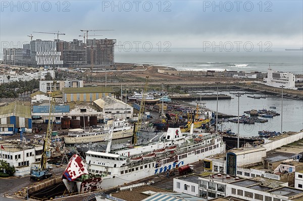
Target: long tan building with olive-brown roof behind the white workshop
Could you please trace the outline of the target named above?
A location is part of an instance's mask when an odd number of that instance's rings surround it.
[[[72,101],[90,102],[102,98],[104,96],[115,96],[112,87],[81,87],[81,88],[63,88],[64,103]]]

